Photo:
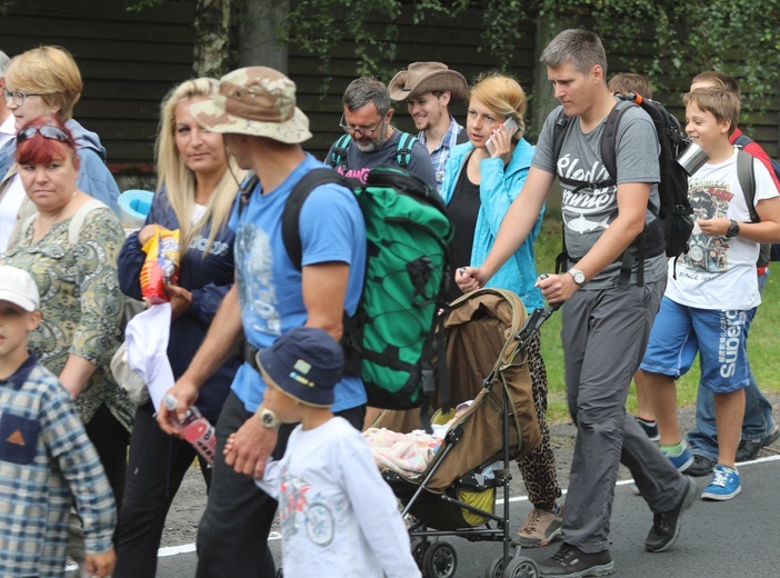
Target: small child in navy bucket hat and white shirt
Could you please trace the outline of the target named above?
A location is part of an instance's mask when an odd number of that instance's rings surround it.
[[[330,411],[341,347],[299,327],[257,356],[268,385],[263,407],[298,423],[284,456],[258,486],[279,501],[284,576],[414,578],[398,502],[360,432]],[[228,441],[229,451],[231,441]]]

